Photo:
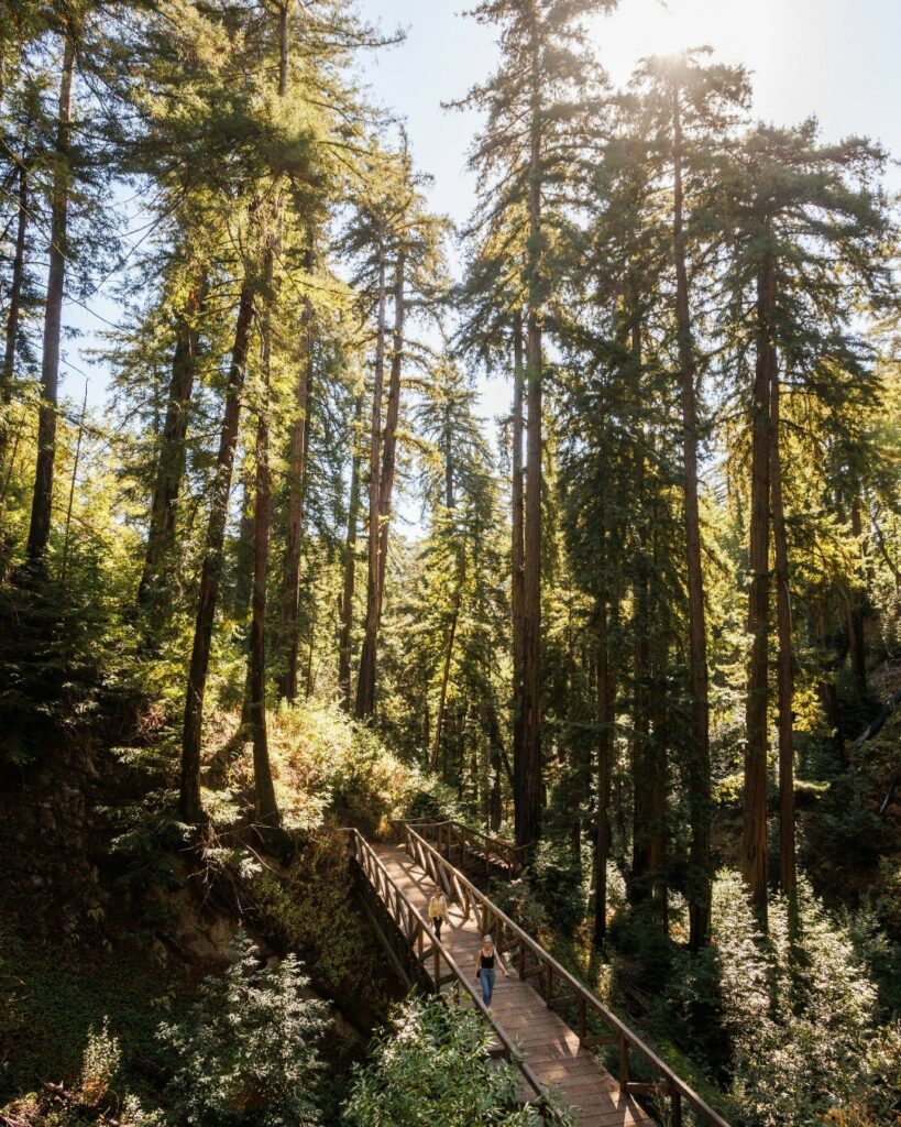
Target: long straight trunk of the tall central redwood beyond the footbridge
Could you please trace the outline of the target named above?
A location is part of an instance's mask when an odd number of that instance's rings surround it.
[[[516,843],[527,850],[541,836],[544,779],[541,704],[542,565],[542,125],[537,14],[533,9],[529,139],[528,316],[526,388],[528,408],[523,579],[523,771],[516,804]]]

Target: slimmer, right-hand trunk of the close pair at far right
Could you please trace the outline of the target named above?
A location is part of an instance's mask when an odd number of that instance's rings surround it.
[[[782,447],[779,436],[779,374],[773,372],[769,392],[769,489],[773,508],[773,550],[776,564],[776,633],[778,637],[778,736],[779,736],[779,884],[794,902],[795,872],[795,749],[794,656],[792,653],[792,602],[788,587],[788,544],[782,496]]]

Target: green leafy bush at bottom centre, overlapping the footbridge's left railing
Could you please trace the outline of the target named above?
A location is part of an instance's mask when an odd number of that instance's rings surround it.
[[[472,1010],[409,1000],[355,1070],[347,1127],[538,1127],[515,1106],[518,1073],[492,1063],[491,1032]]]

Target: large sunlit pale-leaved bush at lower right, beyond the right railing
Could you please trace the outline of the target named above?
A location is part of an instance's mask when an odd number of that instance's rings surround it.
[[[801,881],[797,929],[770,904],[764,939],[738,873],[714,884],[712,946],[685,956],[669,992],[686,1040],[701,1038],[741,1118],[792,1127],[822,1118],[868,1083],[876,992],[846,928]]]

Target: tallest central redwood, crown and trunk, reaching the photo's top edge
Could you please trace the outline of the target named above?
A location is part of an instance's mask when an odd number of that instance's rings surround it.
[[[525,398],[527,456],[523,556],[523,747],[516,779],[516,840],[532,848],[544,801],[541,703],[541,561],[543,322],[551,282],[548,227],[554,190],[562,192],[590,133],[596,71],[585,47],[585,20],[612,0],[482,0],[471,15],[499,28],[501,62],[462,106],[487,113],[470,158],[480,203],[472,228],[488,234],[509,221],[523,232],[525,257]],[[564,140],[565,139],[565,140]],[[553,187],[552,187],[553,186]],[[550,206],[548,206],[550,205]],[[548,214],[550,213],[550,214]]]

